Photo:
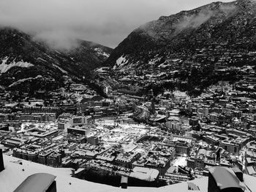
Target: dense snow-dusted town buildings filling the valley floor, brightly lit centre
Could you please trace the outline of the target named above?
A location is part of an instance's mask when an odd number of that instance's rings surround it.
[[[139,85],[108,83],[108,99],[83,95],[83,85],[74,84],[61,102],[58,94],[52,104],[1,101],[4,153],[128,177],[138,177],[136,169],[156,170],[156,178],[169,183],[201,177],[212,166],[237,166],[256,175],[256,103],[240,84],[219,82],[191,98],[167,89],[140,97]],[[69,98],[72,92],[77,98]]]

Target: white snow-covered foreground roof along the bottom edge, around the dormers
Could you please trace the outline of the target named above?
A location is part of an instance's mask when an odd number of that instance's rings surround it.
[[[57,191],[66,192],[66,191],[74,191],[74,192],[82,192],[85,188],[89,188],[91,192],[108,192],[108,191],[124,191],[124,189],[116,188],[109,185],[102,185],[98,183],[91,183],[86,180],[79,180],[74,177],[70,177],[71,169],[64,168],[53,168],[50,166],[45,166],[42,164],[35,164],[30,161],[22,161],[22,165],[15,163],[20,162],[20,159],[14,158],[8,155],[4,155],[4,171],[0,172],[0,186],[1,191],[10,192],[14,191],[18,188],[20,183],[23,183],[27,177],[31,176],[31,174],[36,173],[48,173],[56,176],[56,185]],[[250,188],[252,192],[256,192],[256,177],[251,177],[249,175],[244,174],[244,181],[246,185]],[[71,183],[71,185],[69,184]],[[200,191],[208,191],[208,177],[203,177],[197,180],[189,181],[189,183],[194,183],[200,188]],[[178,191],[184,192],[188,191],[188,183],[178,183],[175,185],[168,185],[162,188],[138,188],[138,187],[128,187],[125,191],[127,192],[170,192],[170,191]],[[200,192],[198,191],[198,192]]]

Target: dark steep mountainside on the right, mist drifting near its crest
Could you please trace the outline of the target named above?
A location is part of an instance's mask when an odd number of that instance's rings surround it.
[[[139,67],[154,58],[189,58],[197,50],[256,50],[256,3],[238,0],[230,3],[215,2],[197,9],[162,16],[132,31],[121,42],[105,65],[115,66],[119,58],[125,64],[116,68]],[[164,59],[162,60],[165,61]]]

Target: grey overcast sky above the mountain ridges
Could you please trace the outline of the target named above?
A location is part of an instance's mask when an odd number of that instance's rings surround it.
[[[224,0],[227,1],[227,0]],[[229,0],[230,1],[230,0]],[[0,0],[0,25],[33,33],[56,47],[86,39],[116,47],[131,31],[161,15],[212,0]]]

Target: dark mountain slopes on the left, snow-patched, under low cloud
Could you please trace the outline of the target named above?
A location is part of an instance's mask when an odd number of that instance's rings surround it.
[[[31,87],[59,88],[67,80],[90,77],[91,70],[101,66],[112,51],[109,47],[83,40],[78,40],[78,45],[74,50],[53,50],[22,31],[1,28],[1,88],[22,88],[22,91],[30,91]],[[20,66],[17,65],[19,62]],[[29,63],[29,67],[23,67],[22,63]],[[14,66],[10,68],[10,65]],[[4,70],[4,67],[9,69]]]

